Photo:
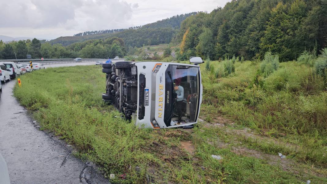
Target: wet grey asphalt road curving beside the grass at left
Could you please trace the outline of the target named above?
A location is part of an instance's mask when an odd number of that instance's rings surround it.
[[[12,96],[16,81],[2,85],[0,98],[0,153],[7,162],[11,184],[109,183],[94,164],[74,157],[71,145],[39,130]]]

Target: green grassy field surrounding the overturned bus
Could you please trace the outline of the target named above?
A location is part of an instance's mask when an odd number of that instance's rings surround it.
[[[26,74],[14,95],[43,129],[74,144],[76,156],[96,162],[106,177],[115,174],[112,183],[327,183],[322,79],[295,62],[263,78],[261,62],[236,61],[235,72],[222,76],[224,62],[211,61],[209,70],[201,64],[204,121],[193,129],[125,121],[102,103],[98,66]]]

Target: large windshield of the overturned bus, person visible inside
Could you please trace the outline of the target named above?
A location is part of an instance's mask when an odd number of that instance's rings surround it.
[[[198,114],[199,67],[169,65],[165,82],[165,124],[195,122]]]

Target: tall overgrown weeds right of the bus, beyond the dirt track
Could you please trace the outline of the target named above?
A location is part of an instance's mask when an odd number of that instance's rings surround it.
[[[324,58],[320,56],[315,63]],[[219,68],[219,62],[215,63]],[[262,62],[235,62],[235,73],[212,80],[203,75],[203,103],[221,115],[258,132],[277,131],[300,137],[297,157],[325,165],[327,91],[323,73],[306,62],[279,63],[267,53]],[[317,65],[315,65],[317,66]],[[324,68],[324,65],[319,65]],[[204,74],[206,74],[204,72]],[[211,121],[214,119],[214,112]],[[305,143],[316,142],[311,147]],[[305,151],[307,150],[307,151]],[[310,151],[308,151],[310,150]]]

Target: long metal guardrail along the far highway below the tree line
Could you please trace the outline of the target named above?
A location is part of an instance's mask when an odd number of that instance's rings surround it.
[[[29,63],[32,61],[33,63],[42,63],[42,64],[57,64],[57,63],[79,63],[79,62],[95,62],[102,61],[105,62],[108,59],[82,59],[82,60],[74,60],[74,59],[2,59],[0,62],[15,62],[15,63]],[[122,59],[111,59],[112,61],[125,61],[125,58]]]

